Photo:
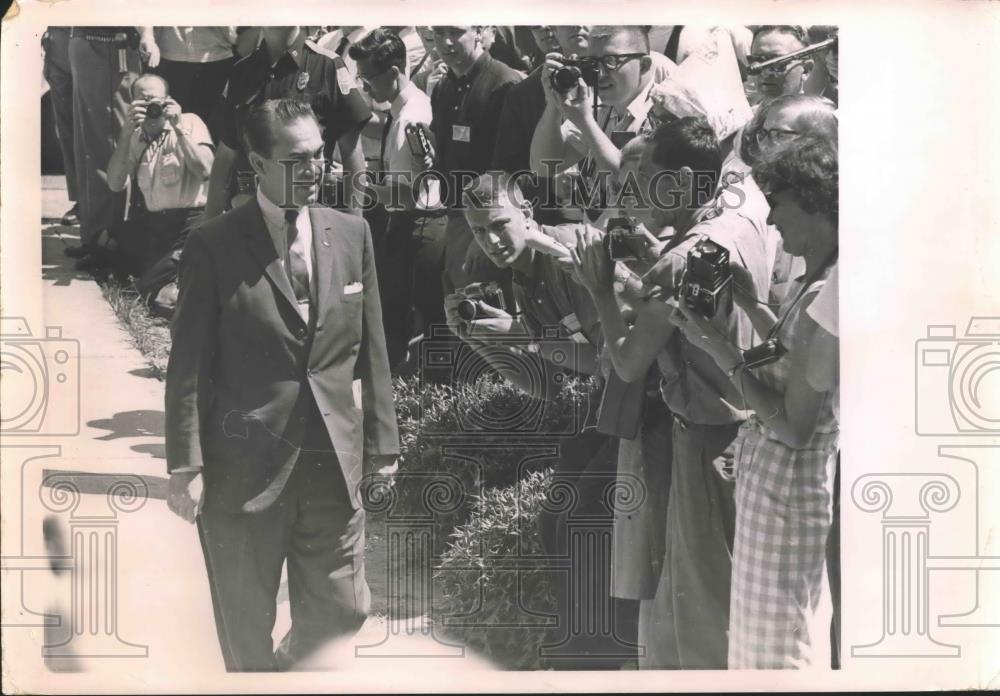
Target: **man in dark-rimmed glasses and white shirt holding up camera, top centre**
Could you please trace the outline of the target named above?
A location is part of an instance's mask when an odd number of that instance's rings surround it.
[[[582,79],[566,93],[556,91],[551,76],[563,67],[564,58],[546,57],[546,107],[531,141],[531,168],[540,176],[552,176],[577,165],[585,190],[598,194],[586,202],[594,220],[620,169],[621,147],[636,133],[653,128],[650,89],[676,66],[662,55],[654,57],[646,27],[641,26],[592,27],[586,58],[598,70],[596,113],[593,90]]]

